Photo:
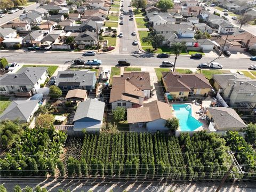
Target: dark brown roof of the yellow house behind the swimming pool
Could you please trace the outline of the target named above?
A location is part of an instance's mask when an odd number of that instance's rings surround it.
[[[166,91],[191,91],[191,89],[212,88],[203,74],[179,74],[162,72]]]

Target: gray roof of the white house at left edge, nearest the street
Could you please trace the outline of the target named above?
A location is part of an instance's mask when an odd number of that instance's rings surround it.
[[[5,74],[0,78],[1,85],[35,85],[47,67],[22,67],[15,74]]]

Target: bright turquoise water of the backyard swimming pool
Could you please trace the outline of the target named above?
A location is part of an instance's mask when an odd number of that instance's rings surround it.
[[[179,119],[181,131],[194,131],[203,124],[191,115],[191,105],[172,105],[175,116]]]

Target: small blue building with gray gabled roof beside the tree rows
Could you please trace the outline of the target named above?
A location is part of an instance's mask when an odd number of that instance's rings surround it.
[[[105,102],[89,99],[79,103],[73,119],[74,131],[98,132],[101,130]]]

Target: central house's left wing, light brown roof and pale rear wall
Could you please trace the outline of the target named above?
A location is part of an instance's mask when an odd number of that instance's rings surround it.
[[[125,77],[114,76],[112,78],[112,89],[109,98],[112,109],[116,107],[140,107],[143,105],[144,97],[145,93]]]

